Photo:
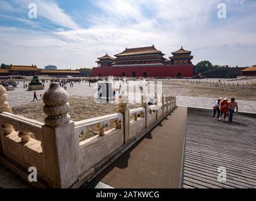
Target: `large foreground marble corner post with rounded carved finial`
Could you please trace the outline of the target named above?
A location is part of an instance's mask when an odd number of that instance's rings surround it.
[[[44,112],[47,114],[42,126],[42,146],[45,151],[47,182],[51,188],[68,188],[78,180],[79,136],[74,133],[70,120],[67,92],[56,82],[45,92]]]

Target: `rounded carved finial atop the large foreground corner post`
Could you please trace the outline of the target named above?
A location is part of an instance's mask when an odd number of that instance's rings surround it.
[[[49,89],[44,93],[44,112],[47,114],[45,124],[50,127],[57,127],[67,124],[70,121],[68,94],[66,90],[54,82],[50,84]]]

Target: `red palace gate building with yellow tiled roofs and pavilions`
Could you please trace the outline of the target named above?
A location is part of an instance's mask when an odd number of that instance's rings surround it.
[[[183,47],[172,52],[166,59],[165,54],[153,46],[126,48],[124,52],[114,55],[106,54],[98,58],[98,67],[93,68],[95,77],[193,77],[194,66],[191,51]]]

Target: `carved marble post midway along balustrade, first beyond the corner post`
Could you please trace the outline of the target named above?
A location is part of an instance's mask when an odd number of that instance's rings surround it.
[[[130,114],[129,109],[127,109],[127,95],[122,91],[118,97],[119,104],[117,108],[117,112],[122,113],[124,117],[124,143],[126,144],[129,141],[129,126],[130,126]]]

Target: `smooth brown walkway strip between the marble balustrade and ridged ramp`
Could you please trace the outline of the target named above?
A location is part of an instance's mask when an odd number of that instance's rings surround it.
[[[187,107],[175,109],[92,182],[114,188],[179,188],[186,118]]]

